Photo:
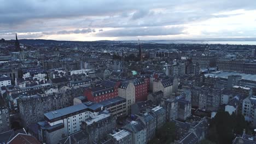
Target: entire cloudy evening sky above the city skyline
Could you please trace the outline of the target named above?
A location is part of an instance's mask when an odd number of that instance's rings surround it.
[[[0,0],[0,38],[256,38],[255,0]]]

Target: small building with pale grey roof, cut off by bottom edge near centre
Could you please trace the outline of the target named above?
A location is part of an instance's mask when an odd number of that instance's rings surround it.
[[[109,136],[114,144],[132,144],[132,134],[127,130],[114,131]]]

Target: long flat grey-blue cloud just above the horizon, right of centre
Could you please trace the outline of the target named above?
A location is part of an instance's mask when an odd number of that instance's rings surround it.
[[[184,27],[139,27],[121,28],[97,33],[100,37],[136,37],[152,35],[177,35],[184,34]]]

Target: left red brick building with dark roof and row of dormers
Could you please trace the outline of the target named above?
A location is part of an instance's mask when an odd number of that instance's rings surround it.
[[[96,103],[118,97],[119,85],[119,81],[113,82],[105,80],[100,86],[86,89],[84,91],[84,96],[87,97],[89,101],[94,101]]]

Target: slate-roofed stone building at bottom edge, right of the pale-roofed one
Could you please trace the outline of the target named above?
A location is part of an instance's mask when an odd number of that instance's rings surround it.
[[[147,129],[141,121],[131,121],[126,124],[123,129],[132,134],[132,143],[146,144],[147,143]]]

